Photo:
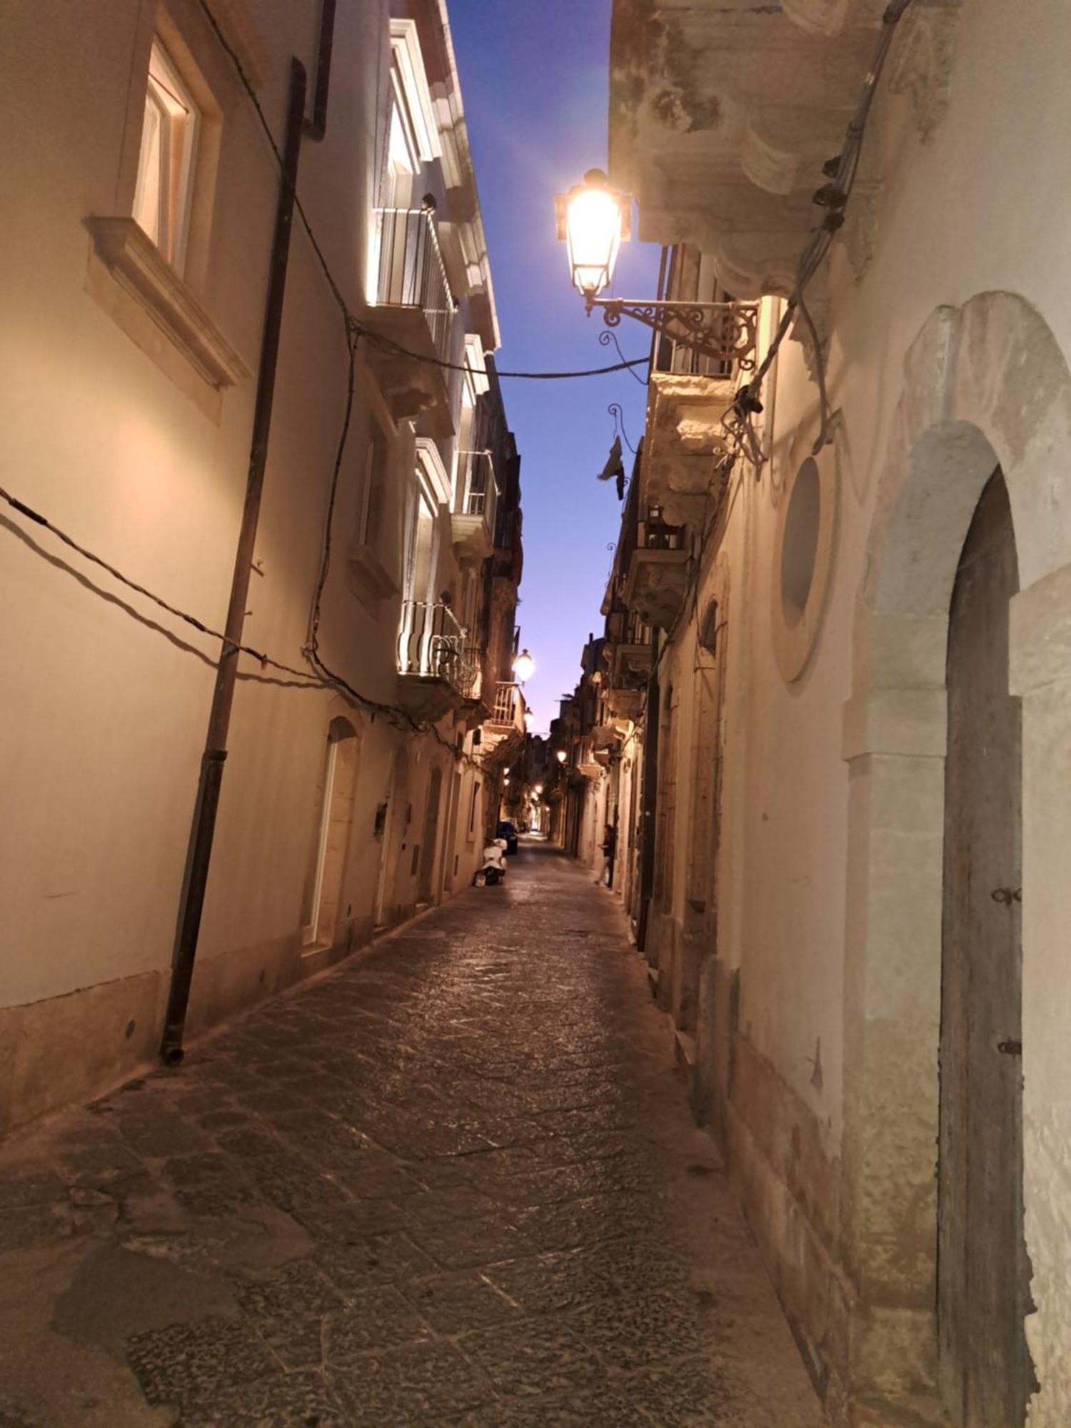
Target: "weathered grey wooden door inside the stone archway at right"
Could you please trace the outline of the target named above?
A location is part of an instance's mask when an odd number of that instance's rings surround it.
[[[1022,1428],[1024,1335],[1020,704],[1008,694],[1018,590],[994,471],[960,558],[948,625],[938,1332],[957,1428]]]

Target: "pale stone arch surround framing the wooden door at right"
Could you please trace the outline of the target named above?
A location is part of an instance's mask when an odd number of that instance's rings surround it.
[[[1024,1192],[1041,1381],[1031,1425],[1067,1421],[1071,1075],[1052,1005],[1071,1004],[1065,873],[1071,813],[1071,374],[1041,316],[1008,293],[938,308],[904,363],[855,617],[845,927],[841,1237],[858,1291],[850,1392],[935,1379],[935,1144],[944,838],[945,647],[964,538],[994,467],[1020,564],[1012,693],[1022,698]],[[1055,840],[1055,843],[1054,843]],[[1062,1168],[1060,1168],[1062,1167]],[[1048,1210],[1047,1210],[1048,1207]]]

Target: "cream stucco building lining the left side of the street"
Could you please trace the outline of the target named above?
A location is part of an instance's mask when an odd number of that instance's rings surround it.
[[[520,460],[440,0],[114,0],[91,26],[46,0],[0,30],[1,1132],[157,1055],[201,627],[234,600],[268,376],[188,1034],[467,884],[524,705]]]

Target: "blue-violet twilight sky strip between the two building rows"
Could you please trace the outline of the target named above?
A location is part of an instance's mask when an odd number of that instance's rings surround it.
[[[603,323],[584,316],[554,237],[554,194],[605,167],[611,0],[450,0],[468,136],[487,228],[506,370],[573,370],[617,361]],[[658,248],[621,250],[614,290],[654,297]],[[637,323],[618,328],[625,357],[650,350]],[[640,368],[643,373],[643,368]],[[521,453],[524,583],[517,618],[537,670],[526,694],[533,731],[571,691],[610,571],[621,508],[597,481],[613,440],[611,401],[633,444],[645,388],[628,373],[574,381],[503,381]],[[631,470],[625,448],[625,470]]]

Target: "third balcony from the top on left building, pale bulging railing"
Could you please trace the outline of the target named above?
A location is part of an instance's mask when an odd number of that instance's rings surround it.
[[[398,697],[414,718],[434,723],[476,698],[478,663],[448,605],[406,600],[398,630]]]

